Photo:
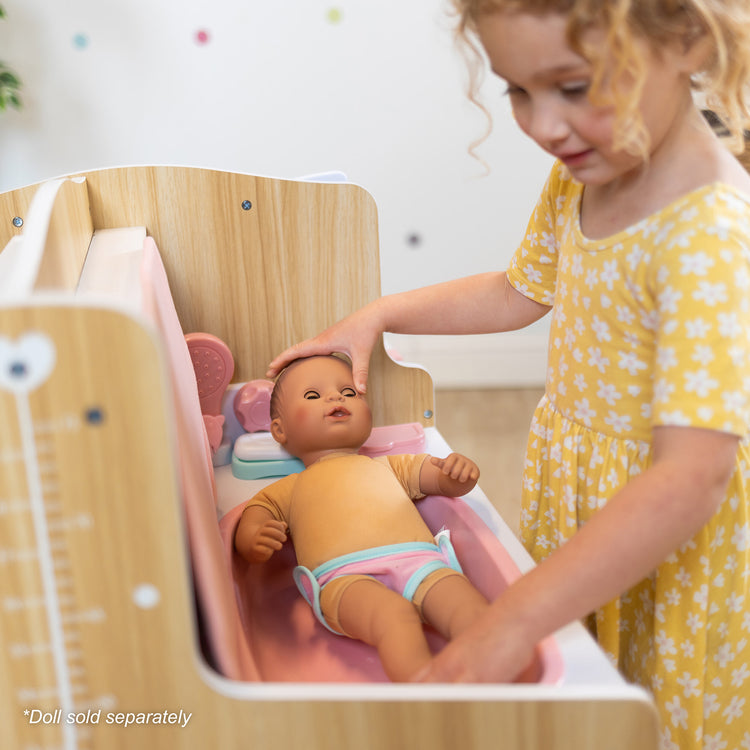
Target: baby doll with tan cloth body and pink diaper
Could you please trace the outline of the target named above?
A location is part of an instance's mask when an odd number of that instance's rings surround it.
[[[305,469],[247,503],[235,548],[264,562],[289,533],[295,580],[318,619],[375,646],[390,679],[408,680],[431,658],[422,620],[452,639],[488,606],[447,533],[433,537],[412,502],[466,494],[476,464],[457,453],[359,455],[372,416],[351,366],[336,356],[292,362],[276,381],[271,419],[273,437]]]

